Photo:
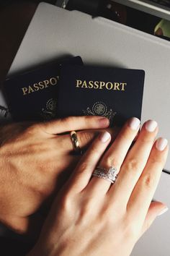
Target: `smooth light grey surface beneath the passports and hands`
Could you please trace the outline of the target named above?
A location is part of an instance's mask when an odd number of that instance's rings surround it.
[[[144,69],[143,120],[156,119],[161,135],[170,141],[169,42],[103,18],[92,20],[80,12],[40,4],[9,74],[65,55],[80,55],[85,64]],[[170,170],[170,158],[166,168]],[[162,175],[156,199],[170,207],[170,175]],[[169,238],[170,213],[166,213],[143,236],[132,255],[169,256]]]

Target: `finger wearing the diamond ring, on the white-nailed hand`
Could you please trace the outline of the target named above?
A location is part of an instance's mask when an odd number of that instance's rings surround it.
[[[111,166],[117,169],[117,173],[120,170],[120,166],[125,159],[126,154],[132,144],[135,136],[138,134],[138,129],[140,127],[140,120],[133,117],[128,120],[125,126],[117,135],[115,142],[112,143],[109,150],[104,154],[102,160],[99,162],[99,167],[109,170]],[[93,176],[91,182],[89,182],[88,189],[91,192],[107,192],[110,187],[111,182],[106,179],[99,179],[98,176]]]

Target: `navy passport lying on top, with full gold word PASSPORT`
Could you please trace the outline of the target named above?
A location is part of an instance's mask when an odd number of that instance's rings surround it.
[[[58,116],[106,116],[112,127],[140,119],[144,77],[138,69],[62,67]]]

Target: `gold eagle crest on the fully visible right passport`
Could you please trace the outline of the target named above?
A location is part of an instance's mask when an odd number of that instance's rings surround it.
[[[108,111],[106,104],[101,101],[94,103],[92,108],[86,108],[86,110],[83,110],[83,113],[85,116],[105,116],[109,119],[110,124],[112,124],[113,118],[117,114],[112,108]]]

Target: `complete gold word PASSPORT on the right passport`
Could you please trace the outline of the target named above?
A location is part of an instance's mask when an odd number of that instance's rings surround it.
[[[102,81],[87,82],[86,80],[76,80],[76,88],[124,91],[126,86],[127,86],[127,82],[102,82]]]

